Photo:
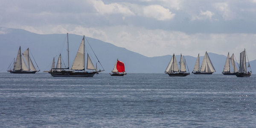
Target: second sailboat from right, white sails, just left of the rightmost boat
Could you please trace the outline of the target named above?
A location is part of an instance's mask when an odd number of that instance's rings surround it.
[[[230,61],[231,61],[231,65],[234,69],[234,72],[230,72]],[[237,73],[238,73],[238,70],[236,67],[235,59],[234,59],[234,53],[231,57],[229,57],[229,52],[228,52],[222,74],[223,75],[236,75]]]

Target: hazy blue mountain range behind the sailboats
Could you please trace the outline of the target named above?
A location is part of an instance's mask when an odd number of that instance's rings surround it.
[[[70,68],[72,67],[82,38],[81,35],[69,34]],[[87,37],[87,40],[103,65],[105,69],[104,73],[111,72],[117,58],[125,63],[125,70],[127,73],[164,73],[173,54],[172,51],[170,51],[171,55],[146,57],[139,53],[94,38]],[[92,61],[96,63],[96,57],[91,51],[90,46],[87,44],[87,41],[85,41],[85,44]],[[55,57],[56,61],[60,53],[67,67],[67,34],[40,35],[23,29],[0,27],[0,46],[0,72],[6,72],[8,66],[17,56],[19,46],[21,46],[21,52],[24,52],[29,47],[41,71],[49,70],[53,57]],[[241,51],[242,50],[243,49],[241,49]],[[215,53],[208,54],[217,71],[216,73],[221,73],[227,56]],[[232,53],[230,53],[230,56],[231,55]],[[239,61],[239,55],[235,56],[237,61]],[[203,57],[204,55],[200,55],[201,62]],[[180,55],[176,55],[176,58],[179,62]],[[185,55],[185,58],[191,73],[196,58],[189,55]],[[256,60],[250,61],[250,66],[252,70],[256,69]]]

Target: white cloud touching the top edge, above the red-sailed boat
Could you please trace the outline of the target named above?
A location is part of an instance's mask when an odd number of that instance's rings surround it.
[[[134,15],[131,10],[119,3],[111,3],[111,4],[105,4],[101,0],[93,0],[92,1],[93,6],[99,12],[100,14],[123,14],[123,15]]]

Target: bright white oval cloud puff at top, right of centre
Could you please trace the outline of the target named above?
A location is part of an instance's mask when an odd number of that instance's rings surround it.
[[[143,15],[156,18],[157,20],[170,20],[175,16],[169,9],[160,5],[145,6],[143,8]]]

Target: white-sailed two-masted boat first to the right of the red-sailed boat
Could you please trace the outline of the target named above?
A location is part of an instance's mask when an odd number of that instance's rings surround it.
[[[184,63],[182,55],[180,54],[180,70],[178,68],[178,64],[175,58],[175,55],[172,55],[171,61],[169,62],[165,73],[169,76],[188,76],[190,73],[186,72],[186,63]]]

